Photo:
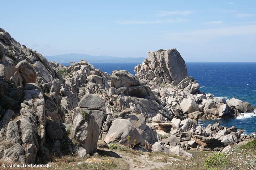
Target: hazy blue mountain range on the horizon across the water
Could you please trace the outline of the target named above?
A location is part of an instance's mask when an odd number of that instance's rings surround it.
[[[44,56],[48,61],[55,61],[58,63],[79,62],[84,59],[89,63],[142,63],[145,58],[133,57],[112,57],[112,56],[90,56],[86,54],[61,54],[55,56]]]

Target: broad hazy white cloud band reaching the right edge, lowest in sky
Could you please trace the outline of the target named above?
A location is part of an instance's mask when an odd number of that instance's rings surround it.
[[[167,37],[177,42],[194,43],[209,41],[219,37],[250,35],[256,36],[256,25],[244,25],[216,29],[199,29],[187,32],[168,32]]]

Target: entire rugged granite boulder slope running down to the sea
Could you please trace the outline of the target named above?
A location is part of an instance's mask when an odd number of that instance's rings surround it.
[[[204,128],[197,121],[236,118],[254,106],[200,91],[176,49],[148,56],[135,76],[109,75],[85,60],[49,62],[0,29],[0,160],[83,158],[110,143],[190,159],[185,150],[222,150],[253,138],[234,126]]]

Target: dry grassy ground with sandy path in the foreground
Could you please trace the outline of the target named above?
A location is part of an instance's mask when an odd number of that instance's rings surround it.
[[[74,156],[63,156],[56,158],[54,162],[48,162],[51,168],[40,168],[48,170],[62,170],[62,169],[91,169],[91,170],[125,170],[144,167],[153,170],[203,170],[204,160],[213,152],[206,151],[189,151],[194,155],[191,160],[185,160],[181,157],[166,154],[166,153],[145,153],[144,155],[130,152],[129,148],[123,149],[104,149],[98,150],[99,155],[89,156],[80,159]],[[225,167],[212,167],[215,169],[228,169],[228,170],[256,170],[256,148],[254,145],[245,145],[243,147],[233,147],[226,153],[228,156],[228,164]],[[85,163],[87,158],[100,159],[100,163]],[[0,162],[6,163],[6,162]],[[80,163],[80,164],[78,164]],[[153,166],[152,166],[153,165]],[[162,166],[159,166],[162,165]],[[10,168],[0,168],[10,169]],[[20,170],[22,168],[11,168],[13,170]],[[34,170],[39,168],[26,168],[27,170]]]

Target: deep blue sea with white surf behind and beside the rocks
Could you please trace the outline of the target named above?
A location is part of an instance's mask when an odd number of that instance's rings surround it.
[[[69,63],[62,63],[70,65]],[[135,75],[134,67],[141,63],[91,63],[95,68],[112,74],[127,70]],[[256,63],[186,63],[188,75],[200,84],[200,90],[215,97],[237,99],[256,106]],[[221,126],[236,126],[244,134],[255,134],[256,114],[244,113],[236,119],[199,120],[202,126],[220,122]]]

